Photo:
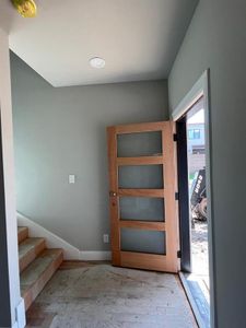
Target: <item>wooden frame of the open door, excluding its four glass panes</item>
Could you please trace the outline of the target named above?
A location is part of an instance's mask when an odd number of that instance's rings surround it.
[[[157,271],[178,272],[179,259],[179,229],[178,206],[175,194],[177,191],[176,144],[173,139],[175,124],[145,122],[114,126],[107,128],[108,138],[108,166],[109,166],[109,211],[112,230],[112,258],[113,265],[132,267]],[[117,157],[117,136],[124,133],[162,132],[162,155],[142,157]],[[171,142],[172,140],[172,142]],[[172,160],[171,160],[172,159]],[[150,165],[164,164],[163,177],[165,189],[121,189],[118,186],[118,167],[120,165]],[[165,167],[165,169],[164,169]],[[163,187],[164,188],[164,187]],[[165,199],[165,222],[126,221],[119,218],[119,197],[157,197]],[[168,218],[168,219],[167,219]],[[173,220],[171,219],[173,218]],[[176,218],[176,219],[175,219]],[[120,249],[120,229],[143,229],[167,231],[166,255],[125,251]],[[175,260],[174,260],[175,259]]]

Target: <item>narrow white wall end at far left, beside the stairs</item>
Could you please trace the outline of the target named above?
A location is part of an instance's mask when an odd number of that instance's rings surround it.
[[[0,106],[1,106],[4,199],[5,199],[5,231],[7,231],[7,248],[8,248],[11,325],[13,326],[15,324],[15,308],[21,302],[21,296],[20,296],[20,280],[19,280],[16,215],[15,215],[9,43],[8,43],[8,36],[1,28],[0,28],[0,67],[1,67]],[[1,190],[1,194],[3,190]],[[1,220],[4,220],[4,218],[1,218]],[[4,237],[5,234],[2,235],[2,238]],[[0,255],[1,256],[0,266],[3,262],[3,258],[5,256],[5,254],[3,254],[3,249],[1,249],[1,251],[2,253]],[[1,267],[0,279],[3,278],[5,270],[7,270],[5,267],[4,268]],[[2,301],[8,302],[8,300],[2,300]],[[7,314],[1,314],[0,316],[0,326],[2,326],[2,323],[4,321],[4,315]]]

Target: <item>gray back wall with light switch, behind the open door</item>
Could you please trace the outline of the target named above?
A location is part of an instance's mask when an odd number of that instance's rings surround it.
[[[166,81],[54,89],[13,54],[11,71],[17,210],[81,250],[108,249],[105,129],[167,118]]]

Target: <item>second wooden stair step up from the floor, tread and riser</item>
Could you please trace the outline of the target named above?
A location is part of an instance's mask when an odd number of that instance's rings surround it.
[[[19,245],[19,265],[22,272],[46,248],[45,238],[26,238]]]

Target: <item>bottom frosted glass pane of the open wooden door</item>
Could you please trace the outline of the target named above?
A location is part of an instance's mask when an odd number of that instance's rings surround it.
[[[166,254],[165,232],[138,229],[120,230],[121,250],[150,254]]]

